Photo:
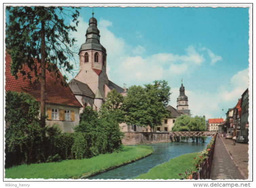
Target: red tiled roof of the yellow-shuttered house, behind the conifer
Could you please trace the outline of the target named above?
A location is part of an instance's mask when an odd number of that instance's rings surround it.
[[[27,93],[37,101],[40,102],[41,100],[41,82],[34,83],[35,81],[35,74],[32,72],[31,76],[32,79],[29,81],[28,79],[24,79],[21,73],[18,73],[18,79],[16,80],[14,76],[12,76],[10,72],[11,66],[11,57],[6,53],[5,57],[5,91],[16,91],[16,92],[24,92]],[[38,74],[41,74],[41,66],[40,63],[37,62]],[[26,72],[30,72],[28,66],[23,66],[23,70]],[[46,70],[46,80],[45,80],[45,91],[46,91],[46,103],[54,103],[54,104],[62,104],[62,105],[69,105],[69,106],[77,106],[81,107],[81,104],[78,102],[76,97],[74,96],[73,92],[71,91],[70,87],[63,86],[61,81],[63,77],[58,70],[58,74],[60,75],[59,78],[53,73]],[[40,80],[39,80],[40,81]]]

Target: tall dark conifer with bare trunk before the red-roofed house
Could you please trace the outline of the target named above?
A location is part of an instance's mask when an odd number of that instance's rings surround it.
[[[71,39],[69,32],[76,31],[76,27],[66,20],[78,24],[79,12],[77,7],[11,7],[6,10],[9,15],[9,23],[6,24],[6,49],[11,56],[11,73],[17,78],[18,72],[30,79],[31,73],[22,70],[27,65],[36,78],[41,79],[41,120],[45,118],[45,70],[57,74],[58,67],[71,72],[73,65],[68,60],[74,58],[74,38]],[[41,75],[38,74],[35,59],[41,63]],[[46,66],[47,63],[47,66]],[[57,75],[58,76],[58,75]],[[64,79],[67,79],[64,76]],[[45,127],[45,121],[41,121]]]

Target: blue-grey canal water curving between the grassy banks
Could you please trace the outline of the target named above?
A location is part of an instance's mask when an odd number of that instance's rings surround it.
[[[135,161],[133,163],[100,173],[95,176],[88,177],[90,180],[95,179],[133,179],[148,172],[151,168],[176,158],[179,155],[186,153],[195,153],[202,151],[206,145],[211,141],[212,137],[207,137],[205,143],[192,143],[188,142],[171,142],[161,144],[147,144],[152,146],[154,152],[152,155],[147,156],[144,159]],[[136,146],[134,146],[136,147]]]

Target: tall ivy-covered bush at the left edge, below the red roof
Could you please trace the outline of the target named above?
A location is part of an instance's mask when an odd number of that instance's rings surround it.
[[[39,103],[25,93],[6,92],[5,100],[6,166],[33,163],[42,156],[42,129],[39,124]]]

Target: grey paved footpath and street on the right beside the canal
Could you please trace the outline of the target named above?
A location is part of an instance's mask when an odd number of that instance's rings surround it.
[[[232,139],[217,137],[211,179],[248,179],[248,144],[237,143],[234,146]]]

